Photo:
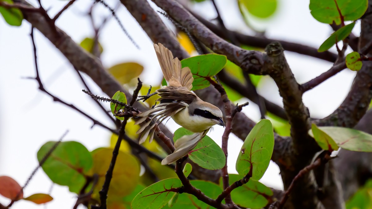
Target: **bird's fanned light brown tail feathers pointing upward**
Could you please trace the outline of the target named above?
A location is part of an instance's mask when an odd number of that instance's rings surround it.
[[[192,88],[192,81],[194,80],[190,68],[184,67],[181,69],[181,62],[177,57],[173,59],[172,52],[163,46],[163,44],[154,44],[154,48],[164,78],[169,86],[183,86],[190,90]]]

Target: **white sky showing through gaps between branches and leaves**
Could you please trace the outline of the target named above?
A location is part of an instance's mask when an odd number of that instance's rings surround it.
[[[106,1],[112,7],[116,1]],[[32,1],[33,5],[37,5]],[[44,8],[49,9],[53,16],[67,1],[42,1]],[[74,41],[80,43],[87,36],[92,36],[93,31],[90,21],[83,16],[90,7],[91,0],[79,0],[73,4],[57,20],[57,26],[70,35]],[[260,22],[251,20],[257,28],[266,29],[269,38],[283,39],[318,47],[330,35],[331,28],[317,22],[308,9],[309,1],[279,0],[278,10],[269,21]],[[235,1],[217,0],[221,8],[222,18],[229,29],[240,32],[249,32],[238,12]],[[193,8],[208,19],[215,17],[214,8],[210,1],[195,4]],[[223,8],[223,9],[222,9]],[[209,12],[205,12],[209,11]],[[97,21],[101,20],[109,11],[102,6],[94,10]],[[151,40],[147,37],[138,23],[121,6],[117,11],[125,28],[132,35],[140,50],[126,38],[117,22],[112,18],[100,35],[103,45],[102,62],[105,67],[110,67],[121,62],[138,62],[145,68],[141,80],[147,84],[158,84],[161,80],[161,71],[153,50]],[[167,25],[170,25],[167,23]],[[92,122],[81,116],[67,106],[55,103],[49,96],[37,89],[35,80],[24,77],[35,76],[33,63],[32,43],[29,36],[31,26],[25,20],[20,27],[11,27],[0,17],[0,176],[11,176],[21,185],[26,181],[32,170],[38,164],[36,152],[42,144],[50,140],[57,140],[65,130],[70,132],[64,141],[78,141],[90,151],[97,147],[108,146],[110,133],[99,126],[91,129]],[[358,35],[360,24],[353,32]],[[78,108],[89,113],[101,122],[113,127],[106,116],[81,92],[84,89],[68,61],[55,49],[44,36],[35,30],[35,42],[38,50],[38,64],[41,79],[45,88],[57,95],[62,100],[73,103]],[[332,51],[336,51],[332,48]],[[321,61],[291,52],[285,52],[289,65],[299,83],[304,83],[311,78],[323,73],[331,67],[330,62]],[[310,109],[313,117],[321,118],[329,115],[336,109],[346,96],[355,73],[344,70],[315,89],[304,94],[304,103]],[[95,94],[104,96],[88,77],[91,90]],[[278,89],[272,80],[264,80],[258,89],[259,93],[268,100],[281,104]],[[111,96],[111,95],[110,95]],[[242,100],[239,103],[243,103]],[[103,104],[109,109],[108,104]],[[259,111],[257,106],[250,103],[243,110],[251,119],[258,121]],[[167,123],[171,131],[179,128],[171,120]],[[208,134],[217,144],[221,145],[223,129],[215,127]],[[228,170],[236,173],[235,161],[243,142],[231,135],[229,139]],[[282,188],[279,169],[271,163],[268,171],[261,180],[267,186]],[[51,181],[40,169],[31,183],[25,189],[25,196],[33,193],[48,193]],[[47,208],[72,208],[76,199],[75,194],[68,192],[67,187],[54,186],[51,193],[54,200],[48,203]],[[8,200],[0,197],[0,202],[7,205]],[[30,202],[19,201],[12,206],[13,209],[39,209]]]

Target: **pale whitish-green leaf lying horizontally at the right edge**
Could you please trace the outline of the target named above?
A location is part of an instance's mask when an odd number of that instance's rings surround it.
[[[336,126],[320,126],[318,129],[330,136],[333,141],[343,149],[357,152],[372,152],[371,134],[351,128]],[[309,135],[314,137],[311,130],[309,130]]]

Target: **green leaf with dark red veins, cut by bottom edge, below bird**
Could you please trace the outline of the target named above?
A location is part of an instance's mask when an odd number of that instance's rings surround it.
[[[142,190],[132,201],[132,209],[159,209],[163,208],[173,197],[172,192],[178,192],[182,183],[177,178],[164,179],[151,184]]]

